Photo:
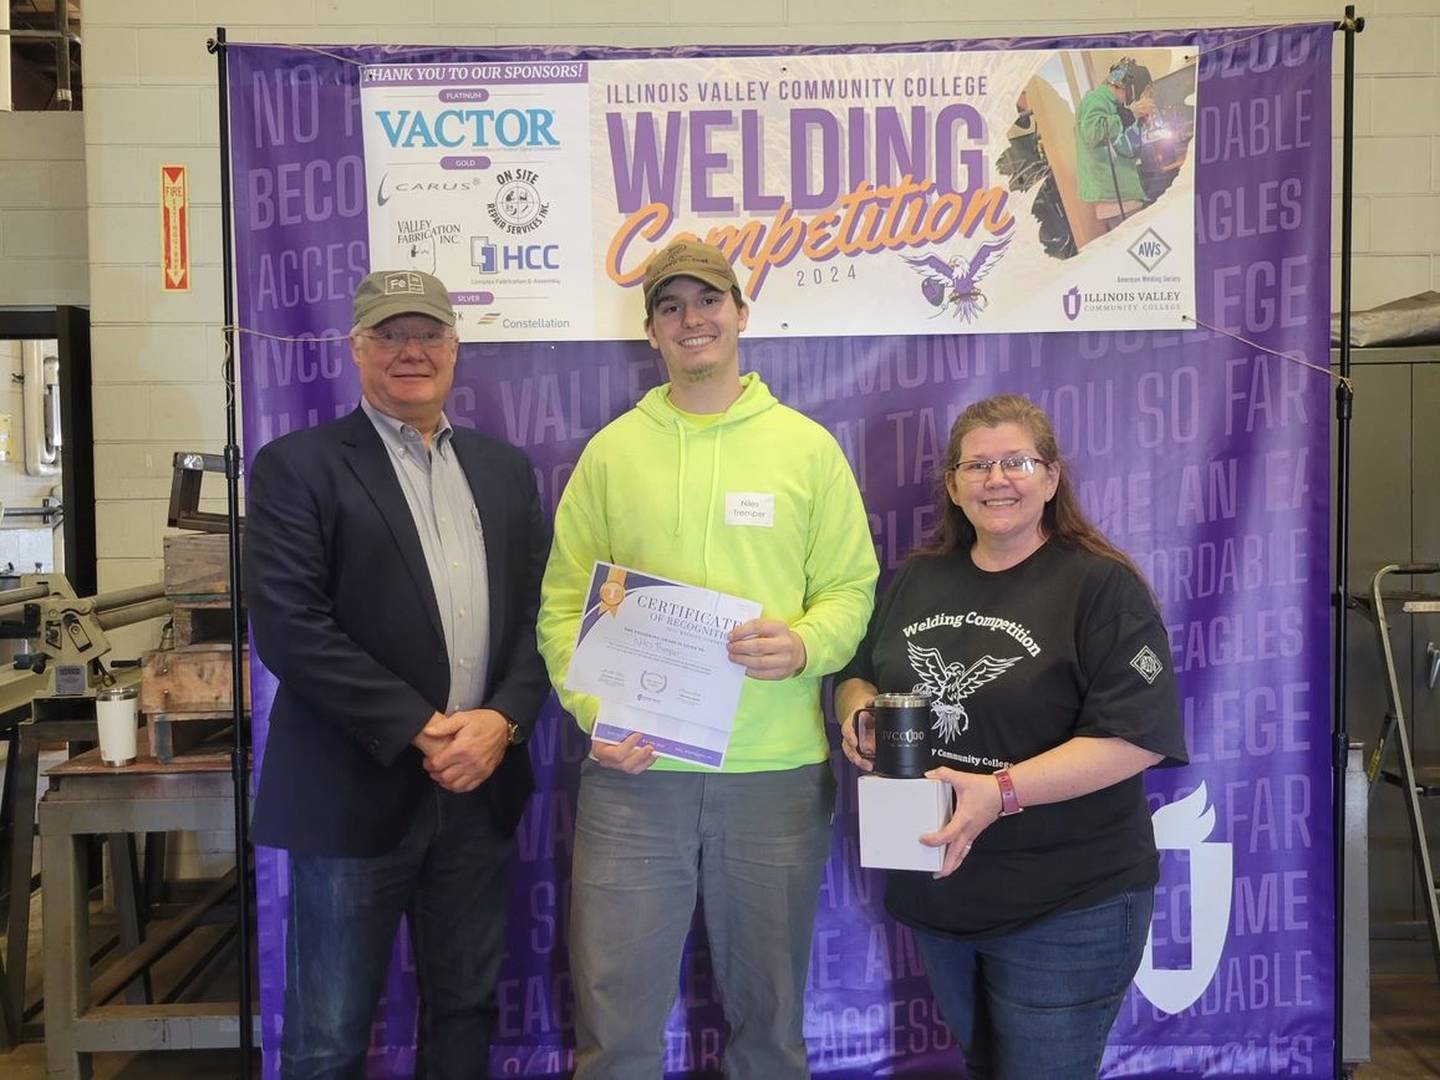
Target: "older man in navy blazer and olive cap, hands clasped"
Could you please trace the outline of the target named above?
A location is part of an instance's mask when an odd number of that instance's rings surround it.
[[[279,680],[253,835],[289,852],[285,1080],[364,1076],[402,914],[420,1073],[487,1073],[549,690],[549,537],[526,455],[445,418],[454,324],[433,276],[370,274],[350,336],[360,408],[275,439],[246,474],[245,595]]]

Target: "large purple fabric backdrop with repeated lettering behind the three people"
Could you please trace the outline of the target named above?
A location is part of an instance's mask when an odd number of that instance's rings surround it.
[[[1067,48],[1200,52],[1198,311],[1205,324],[1325,366],[1329,330],[1331,27],[1104,36]],[[1056,40],[886,49],[1053,48]],[[867,46],[868,48],[868,46]],[[834,52],[834,49],[828,49]],[[776,49],[713,50],[773,53]],[[230,46],[245,451],[353,409],[343,336],[370,269],[360,145],[363,63],[681,56],[625,49]],[[557,317],[563,317],[557,311]],[[334,340],[317,340],[334,338]],[[1054,418],[1081,498],[1146,570],[1179,672],[1191,766],[1152,773],[1162,848],[1151,943],[1104,1076],[1329,1076],[1335,1038],[1331,828],[1329,383],[1211,330],[746,340],[742,364],[845,449],[888,575],[933,521],[952,418],[996,392]],[[586,439],[664,377],[644,343],[467,344],[449,415],[523,446],[554,508]],[[274,683],[256,664],[264,753]],[[566,926],[585,743],[552,704],[531,742],[497,1076],[570,1068]],[[814,942],[806,1035],[816,1073],[956,1068],[910,935],[857,867],[854,772]],[[259,852],[265,1074],[278,1074],[287,873]],[[372,1076],[413,1070],[413,966],[382,1001]],[[724,1022],[696,935],[667,1037],[671,1073],[716,1073]]]

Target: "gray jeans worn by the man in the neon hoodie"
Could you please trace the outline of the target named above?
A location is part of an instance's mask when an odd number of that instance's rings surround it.
[[[655,1080],[704,901],[733,1080],[808,1077],[805,976],[829,855],[829,765],[628,776],[586,762],[575,825],[576,1080]]]

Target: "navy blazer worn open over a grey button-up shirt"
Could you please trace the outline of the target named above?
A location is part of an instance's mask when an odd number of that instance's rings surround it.
[[[485,708],[526,734],[549,693],[536,649],[549,533],[520,449],[455,428],[451,444],[485,534]],[[292,432],[246,469],[245,599],[256,652],[279,680],[256,844],[379,855],[438,791],[410,740],[449,698],[449,655],[420,537],[380,435],[360,409]],[[505,835],[534,786],[524,744],[459,799]]]

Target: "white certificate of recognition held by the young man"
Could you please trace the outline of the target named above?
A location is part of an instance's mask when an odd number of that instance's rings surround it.
[[[760,605],[595,563],[566,690],[600,698],[595,737],[642,732],[667,757],[720,768],[744,668],[727,638]]]

